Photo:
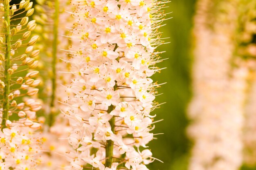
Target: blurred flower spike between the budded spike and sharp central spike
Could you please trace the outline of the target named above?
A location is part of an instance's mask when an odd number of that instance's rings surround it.
[[[43,79],[42,92],[39,97],[43,100],[43,113],[47,121],[43,130],[43,145],[45,151],[41,156],[39,170],[61,170],[69,162],[63,158],[67,149],[72,147],[67,142],[60,141],[59,138],[66,138],[70,135],[68,120],[63,118],[63,111],[68,106],[63,105],[65,93],[69,93],[64,85],[70,82],[72,74],[63,76],[59,72],[69,71],[69,64],[66,60],[69,55],[66,51],[70,46],[70,40],[65,36],[70,34],[66,27],[72,27],[73,18],[65,10],[72,10],[70,0],[37,0],[35,5],[35,15],[38,26],[36,34],[39,35],[37,47],[40,49],[39,68]],[[71,22],[72,20],[72,22]],[[47,67],[46,67],[47,66]]]

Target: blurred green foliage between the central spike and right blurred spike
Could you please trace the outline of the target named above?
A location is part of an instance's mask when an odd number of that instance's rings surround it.
[[[170,20],[166,20],[162,27],[163,36],[170,37],[158,48],[159,51],[166,51],[163,58],[169,58],[158,66],[167,67],[160,74],[155,74],[153,79],[158,83],[167,82],[158,89],[159,95],[156,100],[167,102],[153,113],[157,115],[156,120],[164,121],[155,124],[154,133],[164,133],[155,136],[158,139],[150,143],[153,156],[164,161],[155,161],[148,168],[150,170],[186,170],[190,144],[186,138],[186,106],[191,97],[190,90],[190,39],[192,17],[195,0],[173,0],[168,3],[166,13]]]

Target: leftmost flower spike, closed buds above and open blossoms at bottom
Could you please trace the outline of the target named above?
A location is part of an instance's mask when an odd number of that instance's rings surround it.
[[[0,169],[30,170],[36,167],[41,143],[34,133],[41,126],[36,120],[41,106],[29,98],[37,94],[40,81],[35,79],[38,71],[27,72],[38,63],[33,50],[38,36],[30,38],[36,26],[29,21],[32,2],[10,3],[0,0]]]

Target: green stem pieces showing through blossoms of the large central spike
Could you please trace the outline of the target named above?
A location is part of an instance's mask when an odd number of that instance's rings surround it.
[[[117,83],[114,86],[114,91],[117,90]],[[114,106],[110,105],[108,107],[108,113],[110,113],[112,110],[114,110]],[[111,125],[111,130],[113,133],[115,133],[115,116],[113,116],[110,120],[109,123]],[[108,140],[107,141],[107,145],[106,145],[106,164],[105,166],[108,168],[111,168],[111,164],[112,164],[112,156],[113,156],[113,149],[114,149],[114,142],[112,140]]]

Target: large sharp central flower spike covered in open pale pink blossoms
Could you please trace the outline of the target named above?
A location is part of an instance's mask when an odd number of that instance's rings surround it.
[[[70,110],[73,128],[67,152],[70,169],[141,169],[155,160],[146,148],[154,137],[150,111],[156,87],[149,77],[161,70],[155,48],[167,1],[74,0]],[[142,147],[140,147],[142,146]],[[141,151],[142,150],[142,151]]]

